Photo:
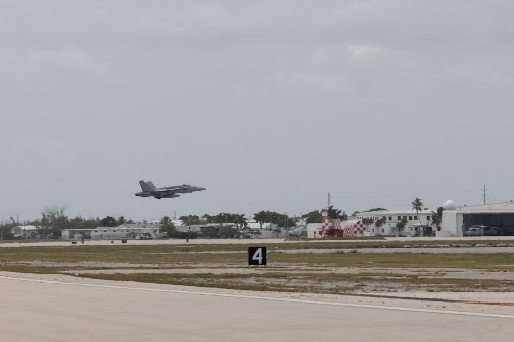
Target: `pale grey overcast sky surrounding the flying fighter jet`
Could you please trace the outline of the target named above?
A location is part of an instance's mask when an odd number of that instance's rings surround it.
[[[514,199],[514,2],[0,0],[0,219]],[[135,197],[139,180],[207,188]]]

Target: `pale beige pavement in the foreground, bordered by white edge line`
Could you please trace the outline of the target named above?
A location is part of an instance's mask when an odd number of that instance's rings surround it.
[[[0,276],[0,339],[501,342],[514,335],[514,315],[73,281]]]

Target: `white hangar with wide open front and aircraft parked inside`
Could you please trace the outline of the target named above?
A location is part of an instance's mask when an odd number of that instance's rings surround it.
[[[443,222],[437,237],[465,236],[473,226],[487,226],[485,235],[514,236],[514,203],[502,202],[447,208],[443,211]]]

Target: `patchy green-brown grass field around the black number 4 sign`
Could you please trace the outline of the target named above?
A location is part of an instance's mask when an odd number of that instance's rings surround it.
[[[473,242],[498,243],[506,242]],[[514,290],[514,254],[510,253],[409,253],[408,248],[400,253],[274,251],[384,245],[376,240],[269,244],[266,267],[248,267],[248,245],[239,244],[3,247],[0,271],[79,272],[81,277],[108,280],[293,292]],[[398,245],[407,244],[388,242],[386,247]]]

